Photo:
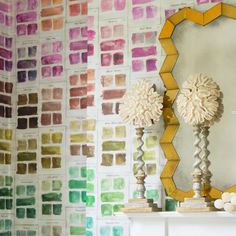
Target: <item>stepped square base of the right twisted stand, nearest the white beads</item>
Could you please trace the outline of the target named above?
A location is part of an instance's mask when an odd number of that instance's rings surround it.
[[[176,208],[178,212],[209,212],[215,211],[213,202],[207,202],[205,198],[185,198]]]

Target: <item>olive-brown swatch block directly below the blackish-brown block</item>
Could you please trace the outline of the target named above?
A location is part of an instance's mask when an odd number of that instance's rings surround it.
[[[38,133],[16,134],[17,166],[16,173],[20,175],[37,174]]]

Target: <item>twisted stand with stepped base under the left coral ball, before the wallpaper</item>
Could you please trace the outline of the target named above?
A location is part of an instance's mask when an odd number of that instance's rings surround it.
[[[137,162],[138,162],[138,168],[137,168],[137,174],[135,175],[137,179],[136,183],[136,194],[137,197],[133,199],[129,199],[129,202],[125,204],[124,208],[121,208],[122,212],[154,212],[154,211],[160,211],[157,207],[157,204],[153,203],[152,199],[146,199],[145,198],[145,178],[146,173],[144,170],[145,162],[143,161],[143,134],[144,134],[144,128],[136,128],[136,136],[137,136]]]

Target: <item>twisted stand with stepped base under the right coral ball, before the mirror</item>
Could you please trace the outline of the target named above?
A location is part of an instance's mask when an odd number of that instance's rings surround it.
[[[205,197],[201,196],[202,190],[202,176],[203,172],[201,169],[202,159],[200,158],[200,153],[202,151],[200,147],[200,126],[194,126],[194,164],[193,164],[193,198],[185,198],[184,202],[180,204],[176,210],[179,212],[204,212],[204,211],[214,211],[215,208],[211,202],[207,202]],[[205,163],[204,163],[205,164]]]

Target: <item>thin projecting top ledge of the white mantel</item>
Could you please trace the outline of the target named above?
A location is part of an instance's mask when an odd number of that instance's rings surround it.
[[[236,218],[236,212],[213,211],[213,212],[191,212],[179,213],[176,211],[151,212],[151,213],[118,213],[116,216],[127,216],[129,219],[134,218]]]

